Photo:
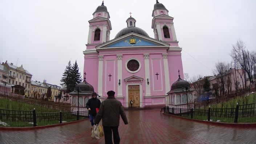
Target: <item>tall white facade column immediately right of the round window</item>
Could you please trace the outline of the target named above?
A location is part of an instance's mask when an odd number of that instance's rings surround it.
[[[145,63],[145,86],[146,86],[146,95],[145,96],[151,96],[150,74],[149,74],[149,54],[143,54],[143,55],[144,55],[144,63]],[[149,85],[147,84],[147,81],[149,81]]]

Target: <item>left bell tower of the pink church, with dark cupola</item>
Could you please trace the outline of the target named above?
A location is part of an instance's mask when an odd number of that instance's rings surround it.
[[[93,13],[93,19],[89,20],[88,45],[109,41],[110,30],[112,29],[109,18],[107,7],[104,5],[104,1],[102,1],[102,4]]]

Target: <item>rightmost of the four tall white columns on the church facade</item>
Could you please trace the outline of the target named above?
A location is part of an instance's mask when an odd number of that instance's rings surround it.
[[[170,91],[170,77],[169,77],[169,66],[167,53],[163,53],[163,68],[164,68],[164,79],[165,79],[165,94]]]

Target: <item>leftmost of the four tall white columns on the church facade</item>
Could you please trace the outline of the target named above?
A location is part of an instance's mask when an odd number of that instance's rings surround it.
[[[102,96],[102,80],[103,80],[103,58],[104,55],[99,55],[99,67],[98,67],[98,95]]]

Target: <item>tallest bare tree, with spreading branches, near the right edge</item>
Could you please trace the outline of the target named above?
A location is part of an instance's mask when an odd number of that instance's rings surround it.
[[[248,75],[249,81],[252,82],[252,55],[248,50],[246,50],[246,46],[242,40],[238,40],[236,45],[233,45],[230,56],[232,59],[239,63],[239,65],[243,68],[245,73]],[[244,74],[244,88],[246,88],[246,74]]]

